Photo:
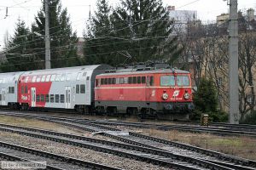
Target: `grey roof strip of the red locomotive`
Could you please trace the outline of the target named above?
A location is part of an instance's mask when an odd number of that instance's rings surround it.
[[[150,71],[119,71],[119,72],[108,72],[98,75],[98,77],[102,76],[115,76],[115,75],[134,75],[134,74],[157,74],[157,73],[175,73],[177,74],[189,74],[189,71],[182,71],[177,69],[158,69],[158,70],[150,70]]]

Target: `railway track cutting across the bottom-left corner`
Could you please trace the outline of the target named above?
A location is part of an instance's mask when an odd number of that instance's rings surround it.
[[[17,144],[9,144],[3,141],[0,141],[0,156],[5,160],[12,161],[46,161],[46,168],[52,170],[118,170],[118,168],[115,167],[108,167],[90,161],[82,161],[72,157],[56,155],[42,150],[34,150]]]

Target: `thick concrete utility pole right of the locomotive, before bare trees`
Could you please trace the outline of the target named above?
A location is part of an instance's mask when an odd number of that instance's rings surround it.
[[[238,124],[239,82],[238,82],[238,14],[237,0],[230,0],[229,23],[229,86],[230,123]]]

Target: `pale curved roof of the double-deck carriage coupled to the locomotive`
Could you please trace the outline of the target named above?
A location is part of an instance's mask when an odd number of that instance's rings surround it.
[[[28,75],[42,75],[42,74],[61,74],[69,72],[79,72],[79,71],[94,71],[94,70],[106,70],[111,68],[110,65],[83,65],[83,66],[74,66],[74,67],[64,67],[64,68],[55,68],[55,69],[46,69],[46,70],[37,70],[37,71],[26,71],[22,76]]]

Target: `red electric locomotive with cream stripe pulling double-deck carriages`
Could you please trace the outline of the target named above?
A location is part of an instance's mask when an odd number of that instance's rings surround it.
[[[97,112],[188,119],[194,109],[188,71],[152,67],[108,71],[96,76]]]

